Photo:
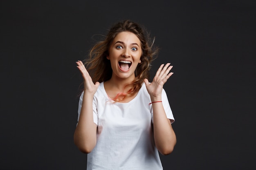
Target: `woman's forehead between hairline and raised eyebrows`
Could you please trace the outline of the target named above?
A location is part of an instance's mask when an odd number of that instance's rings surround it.
[[[121,42],[124,42],[126,44],[131,44],[131,43],[137,43],[138,45],[141,44],[137,35],[135,35],[132,32],[128,32],[128,31],[123,31],[121,33],[118,33],[116,35],[116,37],[114,38],[113,43],[115,43],[117,41],[121,41]]]

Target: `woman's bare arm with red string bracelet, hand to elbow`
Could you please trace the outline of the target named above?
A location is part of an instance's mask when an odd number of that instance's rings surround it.
[[[170,63],[162,64],[149,84],[148,79],[144,79],[146,88],[151,98],[151,102],[162,101],[162,88],[167,79],[173,74],[170,72]],[[170,120],[166,117],[162,102],[152,103],[153,107],[153,130],[155,145],[162,155],[168,155],[173,151],[176,144],[176,135]]]

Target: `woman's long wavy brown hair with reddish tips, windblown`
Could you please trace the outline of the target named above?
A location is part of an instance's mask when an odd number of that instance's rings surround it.
[[[113,99],[116,102],[124,99],[126,96],[134,95],[139,91],[144,79],[149,79],[150,63],[155,59],[154,57],[157,56],[159,51],[159,48],[153,46],[155,38],[153,40],[150,38],[150,34],[144,26],[140,26],[131,20],[119,21],[110,28],[104,40],[97,42],[92,47],[88,60],[85,60],[85,67],[94,83],[105,82],[111,78],[112,68],[110,60],[107,59],[109,48],[117,34],[124,31],[134,33],[139,38],[142,49],[141,63],[138,64],[135,70],[134,81],[127,85],[130,88],[129,91],[127,93],[119,93]]]

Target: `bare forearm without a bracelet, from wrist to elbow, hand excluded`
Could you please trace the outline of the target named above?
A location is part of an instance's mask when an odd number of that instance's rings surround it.
[[[92,99],[91,95],[83,95],[81,113],[74,132],[74,143],[84,153],[91,152],[97,141],[97,125],[93,121]]]

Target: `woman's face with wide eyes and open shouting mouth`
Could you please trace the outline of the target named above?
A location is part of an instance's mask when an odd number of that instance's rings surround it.
[[[112,68],[112,77],[121,79],[135,78],[135,69],[140,63],[141,42],[139,38],[131,32],[124,31],[114,38],[109,48],[109,56]]]

